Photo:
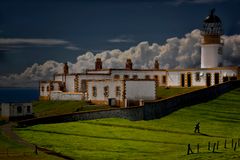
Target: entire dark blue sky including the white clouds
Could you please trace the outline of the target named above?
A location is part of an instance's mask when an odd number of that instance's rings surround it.
[[[239,65],[238,0],[1,0],[0,87],[36,86],[64,62],[80,72],[96,57],[106,67],[129,57],[140,68],[156,58],[165,68],[198,67],[199,29],[212,8],[226,64]]]

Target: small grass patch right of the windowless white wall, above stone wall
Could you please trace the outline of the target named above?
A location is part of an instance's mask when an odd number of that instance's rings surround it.
[[[184,94],[187,92],[192,92],[198,89],[201,89],[203,87],[191,87],[191,88],[166,88],[166,87],[158,87],[157,88],[157,98],[163,99],[163,98],[169,98],[175,95]]]

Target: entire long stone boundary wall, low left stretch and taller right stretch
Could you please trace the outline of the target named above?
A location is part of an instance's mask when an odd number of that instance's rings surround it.
[[[62,123],[78,120],[91,120],[99,118],[126,118],[129,120],[151,120],[161,118],[180,108],[202,103],[216,98],[240,86],[240,80],[229,81],[219,85],[203,88],[197,91],[174,96],[168,99],[147,101],[143,107],[116,108],[109,110],[87,111],[51,117],[34,118],[18,122],[19,127],[36,124]]]

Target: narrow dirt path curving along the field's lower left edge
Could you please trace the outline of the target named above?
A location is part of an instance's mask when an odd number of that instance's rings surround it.
[[[36,149],[36,146],[34,144],[31,144],[25,140],[23,140],[21,137],[19,137],[13,130],[12,128],[16,126],[16,123],[13,123],[13,122],[10,122],[10,123],[7,123],[5,125],[2,125],[0,126],[0,128],[2,129],[2,132],[3,132],[3,135],[6,136],[6,137],[9,137],[10,139],[16,141],[17,143],[23,145],[23,146],[26,146],[28,148],[31,148],[31,149]],[[56,156],[58,158],[63,158],[63,159],[67,159],[67,160],[73,160],[73,158],[71,157],[68,157],[68,156],[65,156],[61,153],[57,153],[55,151],[52,151],[52,150],[49,150],[49,149],[46,149],[46,148],[42,148],[42,147],[38,147],[37,146],[37,150],[39,151],[42,151],[46,154],[49,154],[49,155],[53,155],[53,156]]]

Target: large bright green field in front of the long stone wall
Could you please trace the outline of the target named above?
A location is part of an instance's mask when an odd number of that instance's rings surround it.
[[[75,159],[240,159],[240,148],[236,152],[231,148],[231,139],[240,138],[239,115],[240,89],[236,89],[157,120],[100,119],[37,125],[17,132]],[[198,121],[201,134],[194,134]],[[207,150],[208,141],[220,141],[218,153]],[[201,153],[187,156],[188,143],[193,151],[200,144]]]

